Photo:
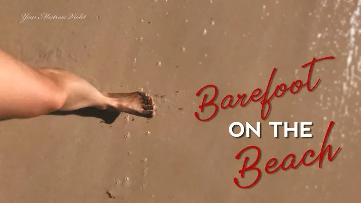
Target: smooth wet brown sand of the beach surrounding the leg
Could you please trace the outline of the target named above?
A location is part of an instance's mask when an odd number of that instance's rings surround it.
[[[120,114],[106,122],[78,115],[1,122],[0,202],[351,203],[361,197],[361,1],[0,3],[5,51],[32,66],[63,67],[109,92],[150,92],[158,106],[151,120]],[[86,18],[20,23],[23,13],[73,12]],[[234,121],[261,121],[259,103],[220,110],[210,122],[194,117],[202,102],[195,94],[207,84],[219,88],[220,102],[265,89],[273,67],[274,85],[305,81],[308,69],[301,65],[326,56],[336,59],[315,66],[312,78],[322,82],[314,92],[272,100],[261,139],[228,133]],[[244,147],[261,148],[260,166],[271,157],[318,152],[331,120],[328,143],[342,147],[333,162],[263,172],[252,189],[234,184],[243,165],[234,157]],[[314,138],[274,139],[268,121],[312,121]],[[254,177],[250,172],[243,183]]]

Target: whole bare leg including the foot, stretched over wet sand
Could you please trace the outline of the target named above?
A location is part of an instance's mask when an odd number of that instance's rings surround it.
[[[84,107],[148,118],[155,115],[155,104],[147,93],[102,93],[64,69],[31,68],[0,50],[0,120]]]

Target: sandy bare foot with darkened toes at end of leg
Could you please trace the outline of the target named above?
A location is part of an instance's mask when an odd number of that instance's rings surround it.
[[[153,118],[155,116],[156,106],[153,98],[145,92],[131,92],[131,93],[108,93],[108,96],[115,98],[117,104],[112,108],[146,118]]]

